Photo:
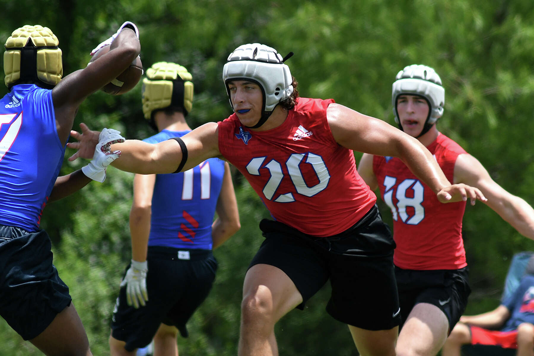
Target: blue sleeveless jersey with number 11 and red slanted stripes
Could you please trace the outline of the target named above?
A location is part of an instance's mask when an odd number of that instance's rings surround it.
[[[187,132],[163,130],[144,141],[156,144]],[[217,158],[185,172],[156,175],[148,246],[211,250],[211,224],[223,176],[224,161]]]

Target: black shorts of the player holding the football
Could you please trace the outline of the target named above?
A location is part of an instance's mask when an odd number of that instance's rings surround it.
[[[25,340],[41,334],[72,301],[51,248],[44,230],[0,225],[0,315]]]

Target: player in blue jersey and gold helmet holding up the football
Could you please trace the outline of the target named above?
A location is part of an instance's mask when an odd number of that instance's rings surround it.
[[[39,224],[46,203],[103,181],[107,155],[58,177],[74,116],[81,102],[122,73],[138,56],[138,31],[125,22],[101,43],[113,50],[87,68],[63,74],[58,38],[48,27],[23,26],[5,43],[0,100],[0,315],[47,355],[91,355],[68,287],[52,264],[51,243]],[[105,145],[118,131],[101,134]],[[104,155],[104,153],[101,153]]]

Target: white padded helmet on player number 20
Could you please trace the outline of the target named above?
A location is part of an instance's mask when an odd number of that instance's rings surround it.
[[[272,112],[280,101],[289,98],[293,93],[293,78],[289,67],[284,64],[282,56],[275,49],[264,44],[244,44],[228,56],[223,67],[223,81],[229,98],[228,82],[246,79],[261,86],[264,95],[263,111],[266,112]]]

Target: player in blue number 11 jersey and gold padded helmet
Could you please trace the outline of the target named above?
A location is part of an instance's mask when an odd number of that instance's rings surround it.
[[[190,132],[191,74],[158,62],[146,76],[143,112],[159,133],[144,141],[157,144]],[[215,279],[211,250],[239,227],[228,163],[211,158],[182,173],[135,175],[132,260],[113,311],[111,354],[135,355],[154,339],[154,355],[177,356],[178,330],[187,337],[186,322]]]

